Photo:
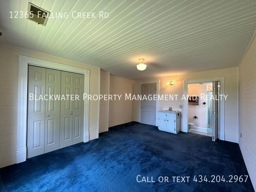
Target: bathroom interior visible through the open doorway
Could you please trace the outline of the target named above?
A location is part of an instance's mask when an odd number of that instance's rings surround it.
[[[212,83],[189,84],[188,94],[197,96],[188,101],[189,132],[211,137],[213,103],[207,98],[212,96]]]

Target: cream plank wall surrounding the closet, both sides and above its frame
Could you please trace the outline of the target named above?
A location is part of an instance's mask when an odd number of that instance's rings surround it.
[[[16,163],[19,54],[89,69],[90,94],[99,94],[98,67],[0,43],[0,167]],[[89,107],[89,139],[92,140],[98,137],[98,101],[90,101]]]

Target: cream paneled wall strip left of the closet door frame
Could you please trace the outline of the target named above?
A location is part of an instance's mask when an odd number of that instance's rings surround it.
[[[0,167],[16,163],[17,150],[18,56],[6,54],[0,44]]]

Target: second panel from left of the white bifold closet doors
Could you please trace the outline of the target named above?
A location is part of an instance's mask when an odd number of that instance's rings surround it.
[[[59,95],[61,72],[46,69],[46,95]],[[59,149],[60,100],[45,101],[45,153]]]

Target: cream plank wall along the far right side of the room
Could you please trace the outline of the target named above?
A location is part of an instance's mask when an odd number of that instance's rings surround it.
[[[256,190],[256,37],[238,66],[239,146]],[[240,135],[242,134],[242,136]]]

